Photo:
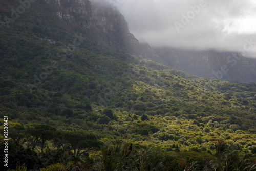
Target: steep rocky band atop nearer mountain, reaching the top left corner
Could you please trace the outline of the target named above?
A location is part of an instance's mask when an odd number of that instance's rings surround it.
[[[1,26],[11,24],[26,14],[44,17],[44,19],[58,18],[58,22],[66,23],[62,29],[67,29],[67,25],[79,25],[90,32],[90,39],[97,40],[98,43],[105,43],[118,48],[129,48],[131,44],[139,44],[138,40],[129,32],[124,17],[120,12],[104,1],[65,1],[65,0],[45,0],[25,4],[26,9],[18,14],[19,7],[23,4],[18,1],[3,1],[6,7],[1,14]],[[17,15],[17,17],[16,17]],[[16,19],[17,18],[17,19]],[[57,22],[57,23],[58,23]],[[51,22],[48,22],[51,23]],[[57,23],[52,23],[54,26]]]

